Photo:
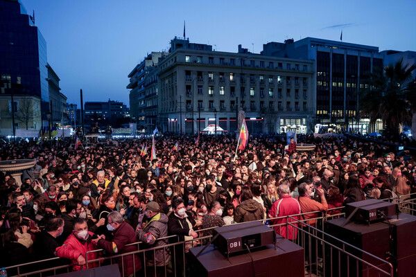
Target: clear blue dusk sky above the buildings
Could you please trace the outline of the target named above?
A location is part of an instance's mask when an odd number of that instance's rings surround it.
[[[129,105],[128,73],[173,37],[262,50],[267,42],[318,37],[416,51],[416,1],[21,0],[44,36],[48,62],[67,102],[120,100]],[[79,106],[78,106],[79,107]]]

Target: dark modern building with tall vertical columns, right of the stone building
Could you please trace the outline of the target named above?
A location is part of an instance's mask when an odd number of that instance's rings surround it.
[[[360,118],[358,112],[358,91],[368,87],[367,73],[382,72],[383,55],[378,47],[306,37],[297,42],[269,42],[261,54],[315,60],[315,122],[339,129],[348,125],[367,129],[369,119]]]

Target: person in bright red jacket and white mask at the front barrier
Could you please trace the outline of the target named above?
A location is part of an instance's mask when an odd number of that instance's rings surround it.
[[[86,269],[85,254],[88,251],[96,250],[96,244],[92,242],[94,233],[88,231],[87,221],[78,218],[73,224],[73,233],[65,240],[62,247],[56,249],[56,255],[60,258],[71,260],[73,271]],[[88,260],[96,260],[97,253],[88,253]],[[98,267],[98,262],[88,262],[88,268]]]

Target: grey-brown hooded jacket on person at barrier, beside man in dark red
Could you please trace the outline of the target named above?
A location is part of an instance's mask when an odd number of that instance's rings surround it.
[[[146,224],[144,229],[136,231],[137,240],[144,242],[148,247],[161,247],[168,244],[168,216],[158,213],[153,216]],[[164,238],[163,240],[158,240]],[[171,261],[171,251],[169,247],[159,248],[155,251],[146,251],[146,266],[164,267]]]

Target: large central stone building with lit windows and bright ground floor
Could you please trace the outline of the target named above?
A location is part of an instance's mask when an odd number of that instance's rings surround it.
[[[312,127],[314,62],[250,53],[212,51],[175,37],[159,67],[158,127],[192,133],[208,125],[237,129],[245,111],[249,132],[277,133]]]

